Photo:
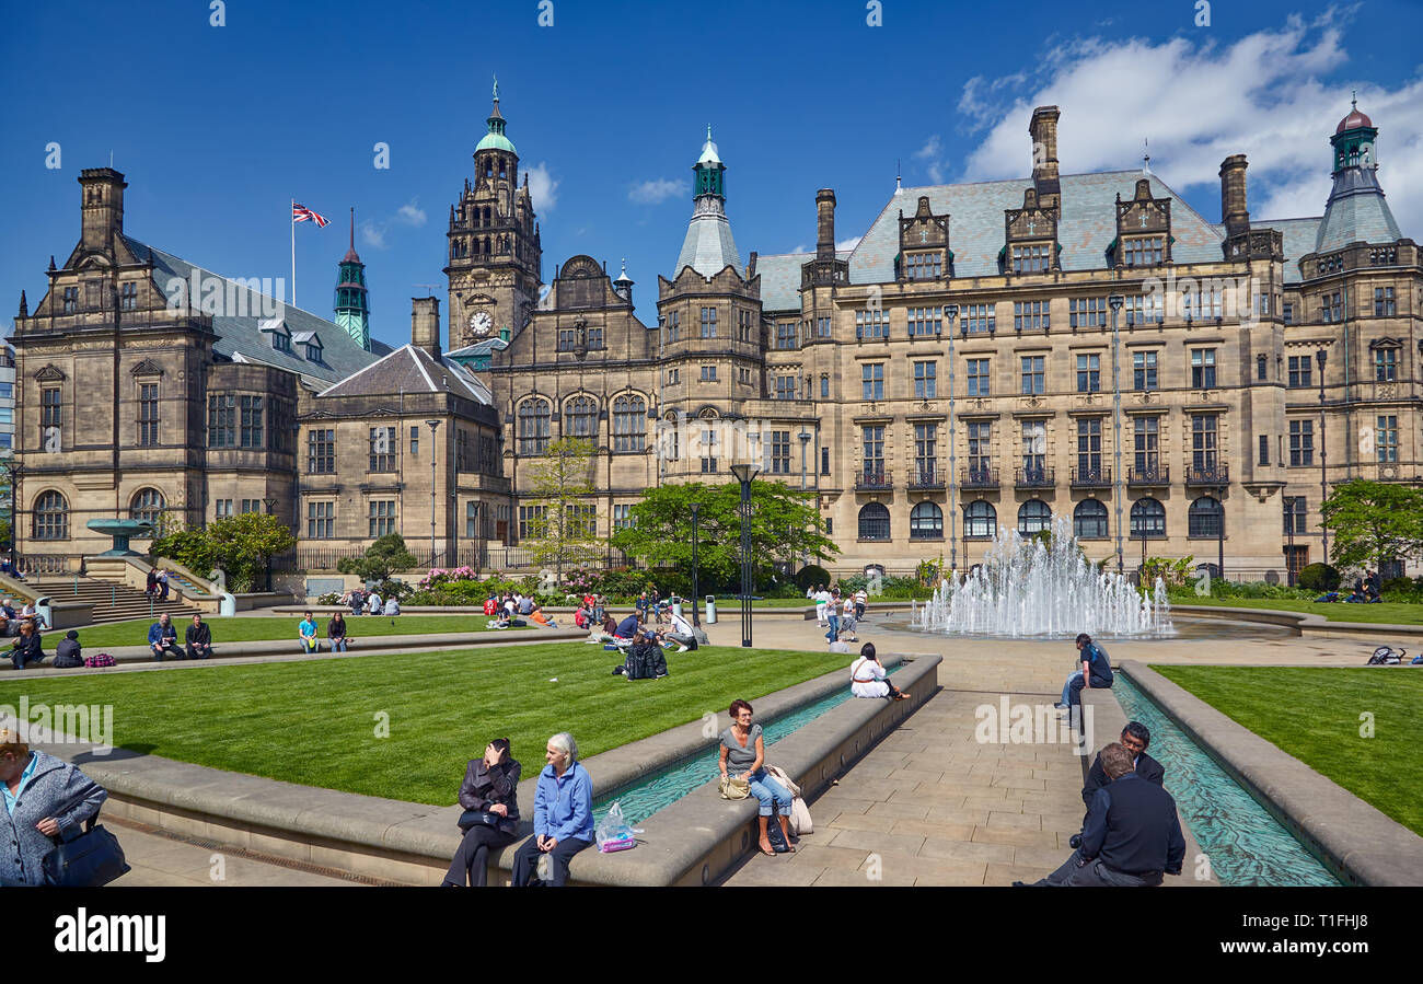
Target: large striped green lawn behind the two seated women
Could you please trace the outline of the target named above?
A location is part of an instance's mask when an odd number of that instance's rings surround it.
[[[404,617],[404,616],[403,616]],[[524,775],[549,735],[582,756],[724,712],[734,698],[842,668],[825,653],[706,647],[669,653],[670,675],[612,675],[615,653],[583,643],[349,660],[192,667],[65,678],[0,678],[0,704],[112,704],[112,742],[233,772],[421,803],[455,802],[465,762],[509,738]],[[556,678],[556,683],[554,681]],[[388,738],[377,738],[388,715]],[[532,815],[534,805],[522,808]]]

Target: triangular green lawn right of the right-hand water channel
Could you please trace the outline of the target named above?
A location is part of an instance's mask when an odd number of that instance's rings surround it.
[[[1423,835],[1423,668],[1151,668]]]

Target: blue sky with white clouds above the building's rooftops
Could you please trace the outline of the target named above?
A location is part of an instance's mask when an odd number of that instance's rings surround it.
[[[508,135],[534,176],[544,279],[578,253],[626,257],[656,317],[690,215],[706,125],[727,162],[727,212],[750,250],[814,246],[834,188],[852,240],[905,183],[1020,176],[1033,105],[1062,109],[1063,172],[1153,169],[1220,220],[1217,168],[1249,156],[1254,218],[1318,215],[1328,137],[1359,90],[1380,128],[1380,181],[1423,236],[1423,10],[1195,0],[1079,4],[862,1],[619,4],[10,4],[0,30],[0,304],[44,292],[78,237],[80,169],[129,182],[125,230],[228,276],[289,276],[330,316],[347,208],[373,333],[408,338],[416,284],[443,284],[448,209],[471,173],[497,73]],[[544,7],[546,11],[546,6]],[[546,18],[546,14],[545,14]],[[60,145],[58,169],[46,168]],[[374,166],[374,145],[390,168]],[[616,274],[616,273],[615,273]],[[443,286],[437,287],[443,296]]]

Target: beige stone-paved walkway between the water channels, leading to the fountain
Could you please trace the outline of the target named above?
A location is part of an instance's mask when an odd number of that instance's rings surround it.
[[[881,653],[939,653],[942,690],[810,803],[815,832],[794,855],[753,856],[727,884],[1009,884],[1069,855],[1081,826],[1081,759],[1066,742],[979,744],[980,705],[1052,705],[1073,664],[1072,643],[982,641],[861,623]],[[709,627],[740,643],[740,623]],[[756,624],[757,646],[821,648],[814,621]],[[854,647],[852,647],[854,648]],[[1114,661],[1237,665],[1362,665],[1372,641],[1282,638],[1113,643]],[[854,657],[840,657],[848,670]],[[1056,720],[1056,718],[1053,718]],[[1053,735],[1056,737],[1056,735]]]

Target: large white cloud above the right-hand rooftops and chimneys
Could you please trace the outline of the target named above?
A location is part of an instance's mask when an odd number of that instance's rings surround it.
[[[1200,33],[1160,43],[1054,43],[1032,78],[1017,73],[965,84],[959,111],[988,134],[973,139],[962,179],[1029,173],[1033,107],[1057,105],[1063,173],[1138,168],[1150,138],[1151,169],[1178,192],[1218,185],[1221,161],[1245,154],[1252,218],[1319,215],[1331,185],[1329,137],[1356,88],[1359,108],[1382,131],[1379,181],[1403,235],[1416,237],[1423,228],[1423,77],[1396,90],[1366,78],[1321,81],[1349,60],[1346,21],[1348,13],[1335,9],[1313,21],[1294,16],[1231,44],[1197,43]],[[1366,65],[1360,61],[1360,71]],[[1207,218],[1220,215],[1208,210]]]

